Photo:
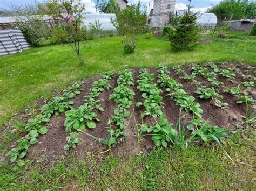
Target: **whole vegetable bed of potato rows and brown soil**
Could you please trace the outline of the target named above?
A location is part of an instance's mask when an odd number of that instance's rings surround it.
[[[231,62],[109,72],[41,105],[7,156],[22,164],[70,150],[83,159],[208,143],[245,127],[255,112],[254,83],[254,66]]]

